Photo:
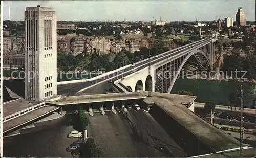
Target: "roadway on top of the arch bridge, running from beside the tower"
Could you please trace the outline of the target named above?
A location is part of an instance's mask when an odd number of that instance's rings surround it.
[[[159,54],[158,57],[150,57],[151,65],[156,64],[160,61],[163,61],[163,59],[168,60],[167,58],[169,58],[169,57],[179,55],[182,52],[193,49],[194,47],[198,46],[199,44],[209,42],[210,40],[212,40],[212,39],[202,39],[200,41],[187,44],[183,47],[179,47],[177,49],[170,50],[170,51],[164,52],[162,54]],[[123,78],[127,75],[130,75],[131,73],[134,73],[136,71],[144,69],[145,67],[148,67],[148,65],[149,65],[148,58],[143,60],[143,61],[136,62],[134,64],[135,64],[134,67],[132,67],[132,66],[127,67],[127,68],[125,68],[125,69],[123,69],[123,70],[121,70],[117,73],[112,73],[112,74],[103,76],[99,79],[95,79],[93,81],[87,81],[87,82],[85,81],[85,82],[82,82],[82,83],[70,83],[70,84],[58,85],[57,86],[57,94],[63,95],[63,96],[74,96],[74,95],[77,95],[78,94],[77,92],[80,91],[83,88],[93,86],[93,85],[98,85],[98,84],[103,83],[104,81],[108,81],[108,80],[111,80],[111,79],[114,82],[114,81],[116,81],[120,78]],[[91,92],[93,92],[93,91],[91,91]]]

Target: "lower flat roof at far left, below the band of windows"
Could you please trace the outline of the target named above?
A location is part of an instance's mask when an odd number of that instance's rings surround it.
[[[59,107],[53,107],[53,106],[45,106],[42,108],[39,108],[37,110],[31,111],[26,115],[17,117],[15,119],[12,119],[10,121],[4,122],[3,123],[3,132],[7,132],[9,130],[12,130],[15,127],[22,126],[23,124],[33,121],[37,118],[40,118],[42,116],[45,116],[49,114],[52,111],[57,110]]]

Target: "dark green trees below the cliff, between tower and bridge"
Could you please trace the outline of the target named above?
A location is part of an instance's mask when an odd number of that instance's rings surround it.
[[[57,67],[61,71],[112,71],[119,67],[135,63],[137,61],[155,56],[168,51],[164,42],[159,41],[151,49],[141,47],[139,51],[131,53],[123,49],[118,53],[100,55],[96,51],[92,54],[80,53],[74,56],[71,53],[57,53]]]

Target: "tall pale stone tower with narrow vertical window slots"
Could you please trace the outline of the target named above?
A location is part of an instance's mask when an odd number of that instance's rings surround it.
[[[57,94],[56,26],[54,8],[26,8],[25,99],[40,101]]]

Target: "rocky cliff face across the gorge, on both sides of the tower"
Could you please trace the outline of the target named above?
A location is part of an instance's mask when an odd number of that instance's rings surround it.
[[[87,53],[94,53],[96,51],[100,54],[120,52],[122,49],[135,52],[138,51],[140,47],[152,46],[153,43],[154,41],[152,41],[152,39],[145,39],[144,37],[115,40],[114,37],[87,37],[69,34],[66,36],[57,36],[57,52],[70,52],[74,55],[82,53],[85,49]],[[22,55],[25,53],[24,44],[24,37],[3,37],[3,53],[4,55],[8,55],[12,52],[13,55]]]

